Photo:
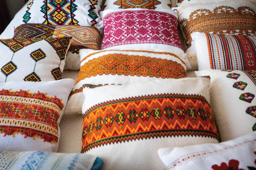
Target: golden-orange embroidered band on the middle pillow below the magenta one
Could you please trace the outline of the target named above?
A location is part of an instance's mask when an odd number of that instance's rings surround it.
[[[90,56],[93,54],[95,53],[92,53]],[[164,54],[173,55],[172,53]],[[79,71],[77,83],[84,80],[84,78],[102,74],[150,76],[156,78],[184,78],[186,77],[186,70],[180,63],[173,60],[157,59],[155,57],[146,57],[144,55],[109,53],[84,63]]]

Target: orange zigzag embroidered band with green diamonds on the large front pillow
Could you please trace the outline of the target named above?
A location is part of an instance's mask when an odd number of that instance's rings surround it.
[[[214,114],[198,95],[157,94],[116,99],[86,110],[82,153],[113,143],[175,136],[220,139]]]

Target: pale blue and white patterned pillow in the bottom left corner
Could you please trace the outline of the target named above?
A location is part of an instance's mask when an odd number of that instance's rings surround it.
[[[99,169],[99,157],[82,153],[0,152],[1,169]],[[15,161],[13,161],[15,160]]]

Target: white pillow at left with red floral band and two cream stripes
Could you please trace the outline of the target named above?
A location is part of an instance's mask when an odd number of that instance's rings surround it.
[[[0,83],[0,150],[56,152],[74,80]]]

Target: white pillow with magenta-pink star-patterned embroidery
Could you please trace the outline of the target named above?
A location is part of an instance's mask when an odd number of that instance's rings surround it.
[[[161,50],[184,53],[172,10],[116,9],[101,13],[104,38],[101,49]]]

